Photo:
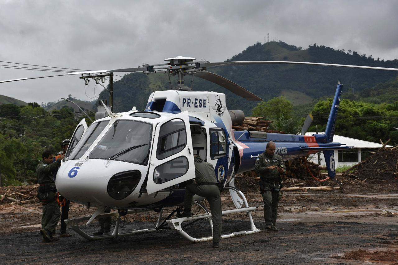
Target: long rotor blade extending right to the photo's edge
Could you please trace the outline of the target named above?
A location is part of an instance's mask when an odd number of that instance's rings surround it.
[[[398,68],[386,68],[375,66],[360,66],[360,65],[347,65],[347,64],[324,64],[316,62],[286,62],[286,61],[238,61],[238,62],[203,62],[200,67],[214,67],[226,65],[250,65],[250,64],[306,64],[306,65],[319,65],[319,66],[337,66],[337,67],[350,67],[350,68],[364,68],[376,70],[390,70],[398,71]]]

